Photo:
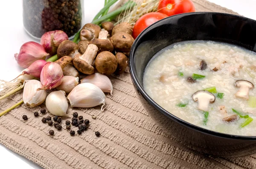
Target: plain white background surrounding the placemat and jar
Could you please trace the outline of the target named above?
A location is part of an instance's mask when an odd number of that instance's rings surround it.
[[[245,17],[256,20],[256,0],[209,0],[220,6],[232,9]],[[96,13],[103,7],[104,0],[84,0],[84,23],[90,23]],[[22,69],[17,65],[14,54],[18,53],[20,46],[31,41],[23,29],[22,1],[1,1],[0,9],[0,79],[12,80]],[[33,40],[35,41],[35,40]],[[0,144],[1,169],[41,169],[32,161],[18,155]]]

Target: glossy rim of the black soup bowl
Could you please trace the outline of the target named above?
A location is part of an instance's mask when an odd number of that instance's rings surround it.
[[[228,15],[228,16],[233,16],[233,17],[238,17],[242,20],[251,20],[253,22],[256,23],[256,20],[247,18],[247,17],[242,17],[239,15],[235,15],[235,14],[226,14],[226,13],[221,13],[221,12],[190,12],[190,13],[183,13],[183,14],[177,14],[177,15],[173,15],[170,17],[166,17],[162,20],[157,21],[156,23],[153,23],[151,26],[148,26],[146,29],[143,30],[143,32],[141,32],[139,34],[139,36],[134,40],[133,45],[131,46],[131,51],[130,51],[130,56],[129,56],[129,69],[130,69],[130,74],[131,74],[131,80],[134,83],[134,86],[136,87],[136,89],[140,92],[140,94],[144,97],[144,99],[151,104],[151,106],[153,106],[155,109],[157,109],[160,113],[162,113],[163,115],[166,115],[167,117],[171,118],[172,120],[174,120],[177,123],[180,123],[183,126],[189,127],[190,129],[194,129],[197,130],[198,132],[204,133],[204,134],[208,134],[208,135],[213,135],[213,136],[217,136],[217,137],[223,137],[223,138],[229,138],[229,139],[235,139],[235,140],[256,140],[256,136],[241,136],[241,135],[231,135],[231,134],[225,134],[225,133],[220,133],[220,132],[215,132],[209,129],[204,129],[202,127],[196,126],[194,124],[191,124],[189,122],[186,122],[185,120],[180,119],[179,117],[176,117],[175,115],[173,115],[171,112],[166,111],[165,109],[163,109],[161,106],[159,106],[153,99],[151,99],[151,97],[148,96],[148,94],[144,91],[143,86],[140,85],[140,83],[138,82],[138,78],[137,75],[135,73],[134,70],[134,53],[135,53],[135,48],[136,46],[139,46],[138,41],[144,36],[144,34],[146,32],[148,32],[149,30],[151,30],[152,28],[155,28],[157,26],[159,26],[161,24],[161,22],[166,21],[166,20],[170,20],[173,17],[177,17],[180,15],[183,16],[188,16],[188,15],[198,15],[198,14],[219,14],[219,15]]]

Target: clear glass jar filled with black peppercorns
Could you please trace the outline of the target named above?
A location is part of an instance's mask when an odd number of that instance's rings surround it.
[[[62,30],[72,38],[81,29],[83,0],[23,0],[23,25],[32,37]]]

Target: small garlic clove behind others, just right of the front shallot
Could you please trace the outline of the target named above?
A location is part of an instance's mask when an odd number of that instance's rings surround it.
[[[62,78],[61,85],[56,87],[58,90],[63,90],[66,93],[70,93],[78,85],[79,77],[64,76]]]

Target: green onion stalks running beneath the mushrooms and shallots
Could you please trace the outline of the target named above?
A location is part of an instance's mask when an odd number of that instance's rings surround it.
[[[111,21],[114,20],[114,18],[116,18],[119,14],[122,13],[122,11],[125,11],[126,9],[130,9],[132,7],[134,7],[136,5],[135,2],[129,0],[127,3],[125,3],[122,7],[120,7],[119,9],[116,9],[110,13],[108,13],[109,8],[116,3],[118,0],[105,0],[105,5],[104,7],[96,14],[96,16],[93,18],[92,23],[101,26],[101,23],[103,21]],[[75,43],[79,43],[80,41],[80,32],[77,32],[73,42]],[[49,59],[47,59],[47,62],[55,62],[56,60],[58,60],[58,56],[57,54],[53,55],[52,57],[50,57]],[[15,89],[14,91],[8,92],[6,95],[0,97],[0,99],[4,99],[12,94],[14,94],[15,92],[18,92],[20,89],[22,89],[23,87],[18,87],[17,89]],[[20,101],[19,103],[15,104],[14,106],[6,109],[5,111],[0,113],[0,117],[4,114],[6,114],[7,112],[11,111],[12,109],[15,109],[15,107],[19,106],[20,104],[22,104],[23,101]]]

